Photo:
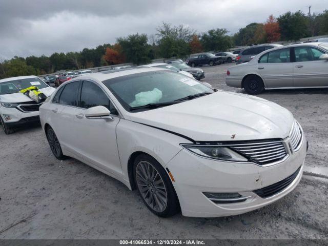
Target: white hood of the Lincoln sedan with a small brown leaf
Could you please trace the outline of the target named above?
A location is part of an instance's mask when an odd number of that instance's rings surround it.
[[[294,121],[290,111],[268,100],[223,91],[129,116],[195,141],[285,138]]]

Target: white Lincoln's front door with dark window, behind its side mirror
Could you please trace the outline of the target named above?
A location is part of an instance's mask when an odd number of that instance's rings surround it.
[[[113,120],[86,118],[86,110],[95,106],[108,108]],[[84,159],[115,175],[122,173],[116,142],[119,120],[116,109],[103,89],[92,81],[83,81],[72,129],[76,133],[74,147]]]

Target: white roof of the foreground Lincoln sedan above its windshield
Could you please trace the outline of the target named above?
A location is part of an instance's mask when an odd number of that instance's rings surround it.
[[[89,74],[86,74],[86,75],[82,75],[82,76],[73,78],[70,81],[81,80],[83,78],[84,79],[97,80],[97,81],[104,81],[104,80],[107,80],[107,79],[117,78],[117,77],[121,77],[121,76],[127,76],[127,75],[130,75],[130,74],[153,72],[153,71],[169,71],[169,70],[164,69],[164,68],[146,68],[146,67],[144,67],[144,68],[132,68],[132,69],[119,69],[119,70],[116,70],[116,72],[105,73],[106,71],[104,71],[103,73],[101,73],[101,72],[89,73]]]

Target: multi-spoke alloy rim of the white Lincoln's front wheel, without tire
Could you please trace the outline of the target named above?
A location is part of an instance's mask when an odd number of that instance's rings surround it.
[[[163,212],[168,203],[168,194],[164,182],[148,161],[140,161],[136,167],[136,181],[142,198],[156,212]]]

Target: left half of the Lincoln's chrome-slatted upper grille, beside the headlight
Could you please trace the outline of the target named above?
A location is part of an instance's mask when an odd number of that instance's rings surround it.
[[[287,155],[281,141],[254,142],[252,144],[231,145],[230,147],[259,165],[279,161]]]

